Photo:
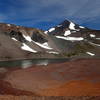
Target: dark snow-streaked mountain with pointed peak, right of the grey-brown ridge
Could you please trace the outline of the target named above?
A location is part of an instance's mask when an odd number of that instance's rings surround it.
[[[58,47],[63,53],[84,53],[91,56],[100,56],[100,31],[80,26],[65,20],[59,25],[45,31],[55,37]],[[58,42],[59,41],[59,42]],[[62,45],[63,44],[63,45]]]

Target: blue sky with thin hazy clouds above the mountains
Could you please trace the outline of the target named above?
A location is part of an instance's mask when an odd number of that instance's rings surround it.
[[[0,0],[0,22],[47,30],[65,19],[100,29],[100,0]]]

